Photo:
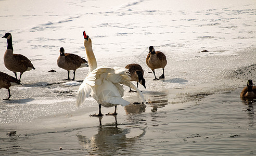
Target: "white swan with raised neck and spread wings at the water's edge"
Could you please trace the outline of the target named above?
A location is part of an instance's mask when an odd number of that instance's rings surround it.
[[[140,93],[140,90],[131,83],[131,78],[128,75],[128,70],[125,68],[109,68],[97,67],[97,61],[92,49],[92,40],[83,32],[84,47],[89,64],[89,72],[78,90],[78,97],[76,98],[76,106],[80,106],[86,98],[91,96],[99,104],[99,113],[90,116],[103,116],[101,113],[101,105],[104,107],[115,107],[114,113],[108,115],[117,115],[117,105],[126,106],[130,102],[122,98],[124,89],[123,85],[129,86],[135,90],[145,102],[145,99]]]

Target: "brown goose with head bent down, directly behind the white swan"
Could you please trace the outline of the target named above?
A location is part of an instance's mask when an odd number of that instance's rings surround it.
[[[140,66],[139,64],[133,63],[133,64],[128,64],[127,66],[125,66],[125,68],[128,69],[130,72],[131,81],[137,81],[137,88],[138,88],[138,83],[142,84],[146,88],[146,81],[143,78],[144,71],[142,69],[142,66]],[[136,91],[133,91],[130,88],[129,92],[136,92]]]

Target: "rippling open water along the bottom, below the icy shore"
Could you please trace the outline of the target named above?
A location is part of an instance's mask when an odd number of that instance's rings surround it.
[[[154,111],[88,118],[80,126],[0,133],[1,155],[253,155],[255,101],[241,88]],[[176,104],[178,105],[178,104]],[[112,110],[110,110],[112,111]],[[99,126],[99,121],[102,125]],[[26,123],[24,123],[26,124]],[[64,125],[64,124],[63,124]],[[5,132],[3,132],[5,131]],[[62,150],[59,150],[59,148]]]

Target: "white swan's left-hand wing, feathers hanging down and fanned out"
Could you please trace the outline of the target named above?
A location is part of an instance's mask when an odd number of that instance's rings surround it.
[[[86,98],[89,97],[89,95],[92,92],[92,88],[90,84],[94,84],[95,81],[87,80],[87,77],[85,77],[84,82],[80,85],[78,89],[78,96],[76,97],[76,106],[79,107]]]

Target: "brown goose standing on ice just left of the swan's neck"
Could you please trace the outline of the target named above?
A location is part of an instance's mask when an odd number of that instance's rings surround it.
[[[65,50],[63,47],[61,47],[59,49],[59,57],[57,60],[57,64],[60,68],[65,69],[68,71],[68,79],[64,79],[64,80],[71,80],[69,77],[69,71],[73,70],[74,72],[74,77],[75,77],[75,70],[78,68],[82,68],[82,67],[88,67],[88,62],[81,58],[78,55],[75,54],[69,54],[69,53],[65,53]],[[74,77],[73,77],[73,81],[74,81]]]

